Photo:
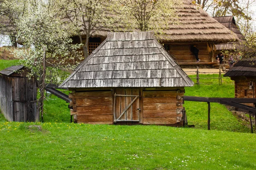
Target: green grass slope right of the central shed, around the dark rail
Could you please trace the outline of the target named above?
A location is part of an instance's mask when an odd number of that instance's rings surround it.
[[[200,75],[204,77],[218,77],[217,74]],[[191,75],[189,77],[195,77]],[[218,79],[203,79],[205,84],[213,85],[194,85],[185,88],[186,96],[201,97],[234,97],[235,90],[233,81],[224,79],[222,85],[218,85]],[[211,103],[211,129],[226,130],[234,132],[250,132],[249,128],[244,126],[245,122],[238,121],[233,114],[227,110],[224,105]],[[207,129],[208,104],[207,102],[185,101],[187,119],[189,125],[195,125],[195,128]]]

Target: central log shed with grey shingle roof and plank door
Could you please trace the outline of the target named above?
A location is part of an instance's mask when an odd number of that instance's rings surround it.
[[[72,91],[79,123],[180,126],[193,85],[153,32],[125,32],[108,33],[59,87]]]

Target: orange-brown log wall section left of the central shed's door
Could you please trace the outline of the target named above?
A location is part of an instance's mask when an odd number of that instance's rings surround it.
[[[74,122],[89,124],[113,124],[113,94],[111,90],[78,91],[69,94],[72,99],[70,114]]]

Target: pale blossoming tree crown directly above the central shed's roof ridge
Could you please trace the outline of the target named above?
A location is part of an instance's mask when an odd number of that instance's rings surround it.
[[[163,30],[171,23],[177,23],[174,5],[180,0],[118,0],[119,13],[128,27],[140,31]]]

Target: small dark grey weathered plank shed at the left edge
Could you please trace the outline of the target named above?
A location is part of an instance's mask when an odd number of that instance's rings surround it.
[[[23,65],[0,71],[0,109],[8,121],[39,120],[36,80],[28,79],[27,73]]]

